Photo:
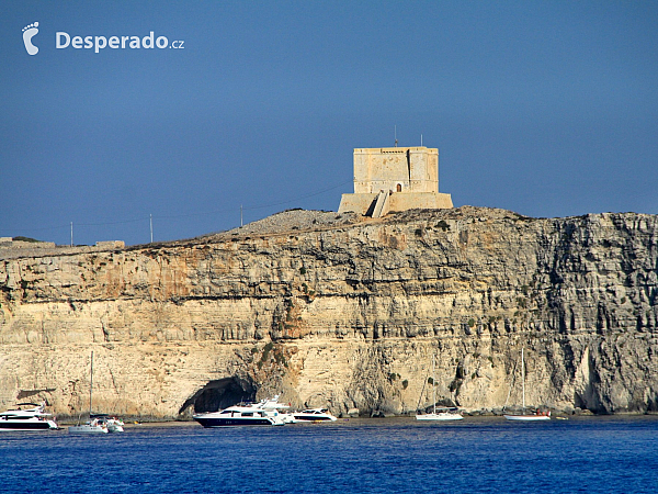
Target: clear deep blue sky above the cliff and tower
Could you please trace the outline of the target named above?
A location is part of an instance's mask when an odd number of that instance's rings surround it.
[[[23,27],[38,22],[29,55]],[[460,205],[658,213],[658,2],[5,1],[0,236],[189,238],[338,209],[355,147]],[[56,47],[166,36],[182,49]]]

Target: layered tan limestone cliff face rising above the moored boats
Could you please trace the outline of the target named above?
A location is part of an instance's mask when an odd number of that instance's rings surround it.
[[[658,216],[410,211],[0,256],[0,407],[658,411]],[[342,223],[341,223],[342,222]],[[291,226],[293,225],[293,226]]]

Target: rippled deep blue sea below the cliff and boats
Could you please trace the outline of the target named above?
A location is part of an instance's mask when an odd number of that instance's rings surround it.
[[[0,493],[656,493],[658,417],[0,433]]]

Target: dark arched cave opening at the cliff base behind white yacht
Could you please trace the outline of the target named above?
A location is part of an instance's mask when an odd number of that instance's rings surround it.
[[[256,388],[251,383],[236,377],[217,379],[208,381],[206,385],[190,396],[179,409],[179,414],[217,412],[237,403],[253,400],[256,400]]]

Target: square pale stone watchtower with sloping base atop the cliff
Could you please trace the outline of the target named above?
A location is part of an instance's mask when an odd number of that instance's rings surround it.
[[[354,149],[354,193],[342,194],[338,212],[381,217],[452,206],[450,194],[439,193],[439,149],[376,147]]]

